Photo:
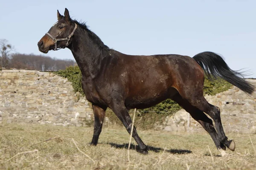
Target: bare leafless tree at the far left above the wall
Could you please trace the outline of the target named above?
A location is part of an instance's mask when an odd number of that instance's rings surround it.
[[[0,67],[6,68],[9,62],[9,56],[14,51],[12,45],[5,39],[0,40]]]

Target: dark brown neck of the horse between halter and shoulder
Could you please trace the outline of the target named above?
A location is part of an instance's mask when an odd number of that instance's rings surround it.
[[[108,55],[108,52],[100,49],[99,45],[93,42],[82,28],[78,28],[74,34],[70,50],[82,74],[87,79],[97,76],[102,59]]]

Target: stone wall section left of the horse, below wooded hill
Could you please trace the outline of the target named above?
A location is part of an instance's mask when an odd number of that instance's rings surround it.
[[[53,72],[2,69],[0,123],[84,126],[93,121],[85,97],[75,94],[71,82]]]

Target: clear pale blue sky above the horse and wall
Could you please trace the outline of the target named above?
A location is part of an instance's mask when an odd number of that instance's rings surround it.
[[[57,21],[57,9],[64,14],[65,8],[122,53],[193,57],[212,51],[256,78],[255,0],[10,0],[0,5],[0,39],[19,53],[73,59],[69,49],[43,54],[37,47]]]

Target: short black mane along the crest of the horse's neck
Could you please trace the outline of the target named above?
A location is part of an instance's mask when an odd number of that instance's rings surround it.
[[[107,45],[105,45],[102,42],[102,40],[93,31],[91,31],[88,28],[88,26],[85,24],[85,22],[79,23],[77,20],[73,20],[73,22],[76,23],[81,28],[83,28],[85,31],[87,31],[91,40],[93,40],[93,42],[98,44],[101,49],[104,49],[104,50],[107,50],[107,51],[111,50]]]

